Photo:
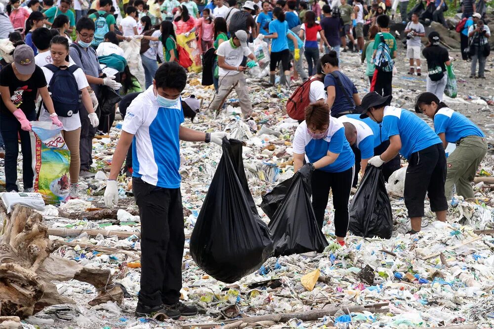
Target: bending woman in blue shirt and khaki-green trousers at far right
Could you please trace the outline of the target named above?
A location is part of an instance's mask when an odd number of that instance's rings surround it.
[[[432,93],[422,93],[415,101],[415,111],[425,113],[434,120],[434,130],[443,142],[455,143],[456,149],[448,157],[445,194],[450,199],[453,186],[456,194],[473,198],[471,182],[475,178],[480,162],[487,154],[486,136],[463,114],[448,108]]]

